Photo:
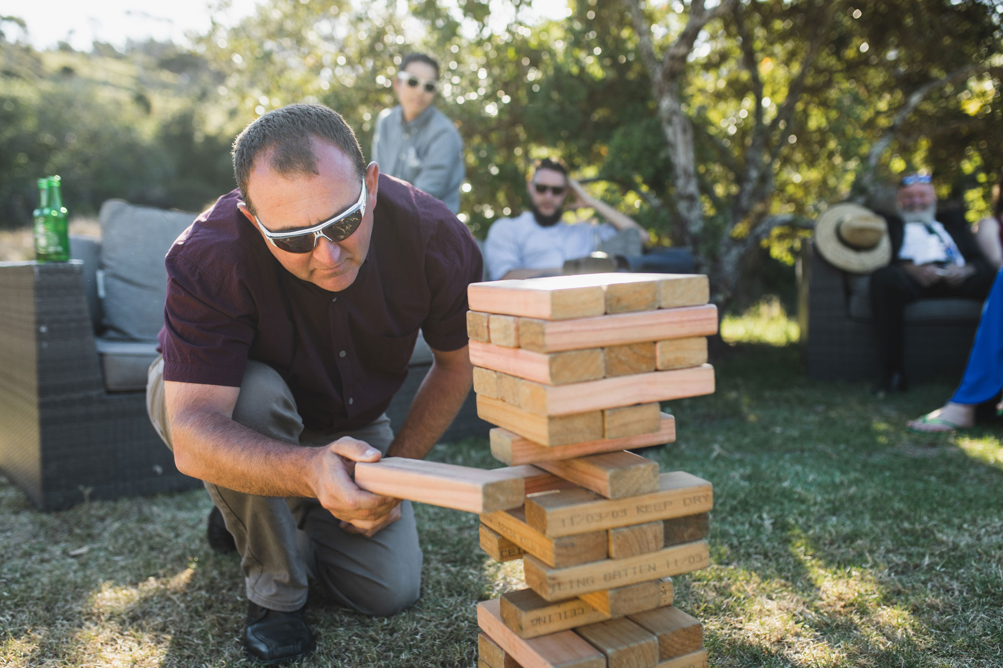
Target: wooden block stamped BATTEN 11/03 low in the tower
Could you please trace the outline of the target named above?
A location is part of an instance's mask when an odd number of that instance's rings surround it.
[[[560,601],[611,587],[624,587],[706,568],[707,543],[684,543],[658,552],[555,569],[536,557],[523,559],[526,584],[548,601]],[[590,601],[591,603],[591,601]]]

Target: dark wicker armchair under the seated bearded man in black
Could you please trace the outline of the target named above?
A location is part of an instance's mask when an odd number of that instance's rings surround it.
[[[870,276],[833,267],[805,242],[797,262],[798,320],[807,375],[818,380],[877,377]],[[957,380],[982,314],[971,299],[922,299],[906,308],[905,364],[910,380]]]

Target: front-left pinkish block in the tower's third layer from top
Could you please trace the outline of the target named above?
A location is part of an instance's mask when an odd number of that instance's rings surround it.
[[[494,369],[545,385],[565,385],[602,378],[605,372],[604,359],[602,348],[539,353],[480,341],[472,341],[470,344],[470,363],[474,366]]]

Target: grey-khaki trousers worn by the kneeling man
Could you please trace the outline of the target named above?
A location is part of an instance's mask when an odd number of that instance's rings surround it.
[[[163,360],[150,365],[146,408],[153,428],[174,450],[163,402]],[[386,452],[393,440],[384,414],[354,431],[304,433],[296,401],[282,376],[249,361],[234,420],[265,435],[304,445],[341,436]],[[410,606],[421,584],[421,549],[409,502],[401,518],[372,538],[349,534],[316,498],[257,496],[205,482],[241,555],[248,599],[272,610],[298,610],[307,600],[307,575],[334,602],[361,613],[388,616]]]

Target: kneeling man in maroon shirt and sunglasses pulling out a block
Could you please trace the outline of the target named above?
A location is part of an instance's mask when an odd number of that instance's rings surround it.
[[[442,203],[366,165],[325,106],[261,116],[233,155],[239,188],[168,253],[147,405],[241,555],[248,652],[278,663],[313,649],[308,574],[368,615],[417,599],[409,504],[352,473],[421,458],[449,425],[470,388],[466,286],[481,260]],[[434,361],[394,435],[384,411],[419,329]]]

